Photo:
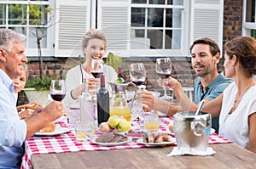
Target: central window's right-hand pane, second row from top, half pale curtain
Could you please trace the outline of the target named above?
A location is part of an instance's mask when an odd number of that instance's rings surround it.
[[[166,27],[181,28],[182,9],[166,9]]]

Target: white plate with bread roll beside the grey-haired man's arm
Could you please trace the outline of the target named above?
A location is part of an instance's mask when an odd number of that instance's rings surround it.
[[[67,127],[56,127],[54,122],[49,122],[45,127],[35,133],[36,136],[55,136],[65,132],[69,132]]]

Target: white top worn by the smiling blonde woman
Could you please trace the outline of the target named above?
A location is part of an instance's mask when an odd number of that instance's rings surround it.
[[[82,76],[82,74],[83,76]],[[105,82],[106,87],[108,88],[108,91],[111,91],[110,86],[108,85],[108,82],[114,82],[114,80],[117,78],[117,73],[113,69],[113,67],[109,65],[104,65],[103,67],[103,74],[105,75]],[[66,97],[63,99],[64,104],[73,104],[77,101],[77,99],[73,99],[71,97],[71,91],[78,87],[80,84],[82,84],[82,78],[84,79],[90,79],[94,78],[94,76],[88,74],[83,68],[80,69],[80,65],[77,65],[73,67],[70,70],[67,70],[67,76],[66,76]]]

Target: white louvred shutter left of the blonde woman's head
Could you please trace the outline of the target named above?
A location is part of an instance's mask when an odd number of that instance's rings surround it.
[[[55,56],[83,55],[80,46],[90,29],[90,0],[56,0]]]

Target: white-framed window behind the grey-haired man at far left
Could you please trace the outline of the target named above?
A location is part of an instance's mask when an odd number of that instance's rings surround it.
[[[0,28],[9,28],[26,35],[25,48],[37,48],[35,35],[42,36],[41,48],[47,48],[47,31],[43,35],[40,29],[47,30],[49,26],[48,11],[48,0],[0,1]]]

